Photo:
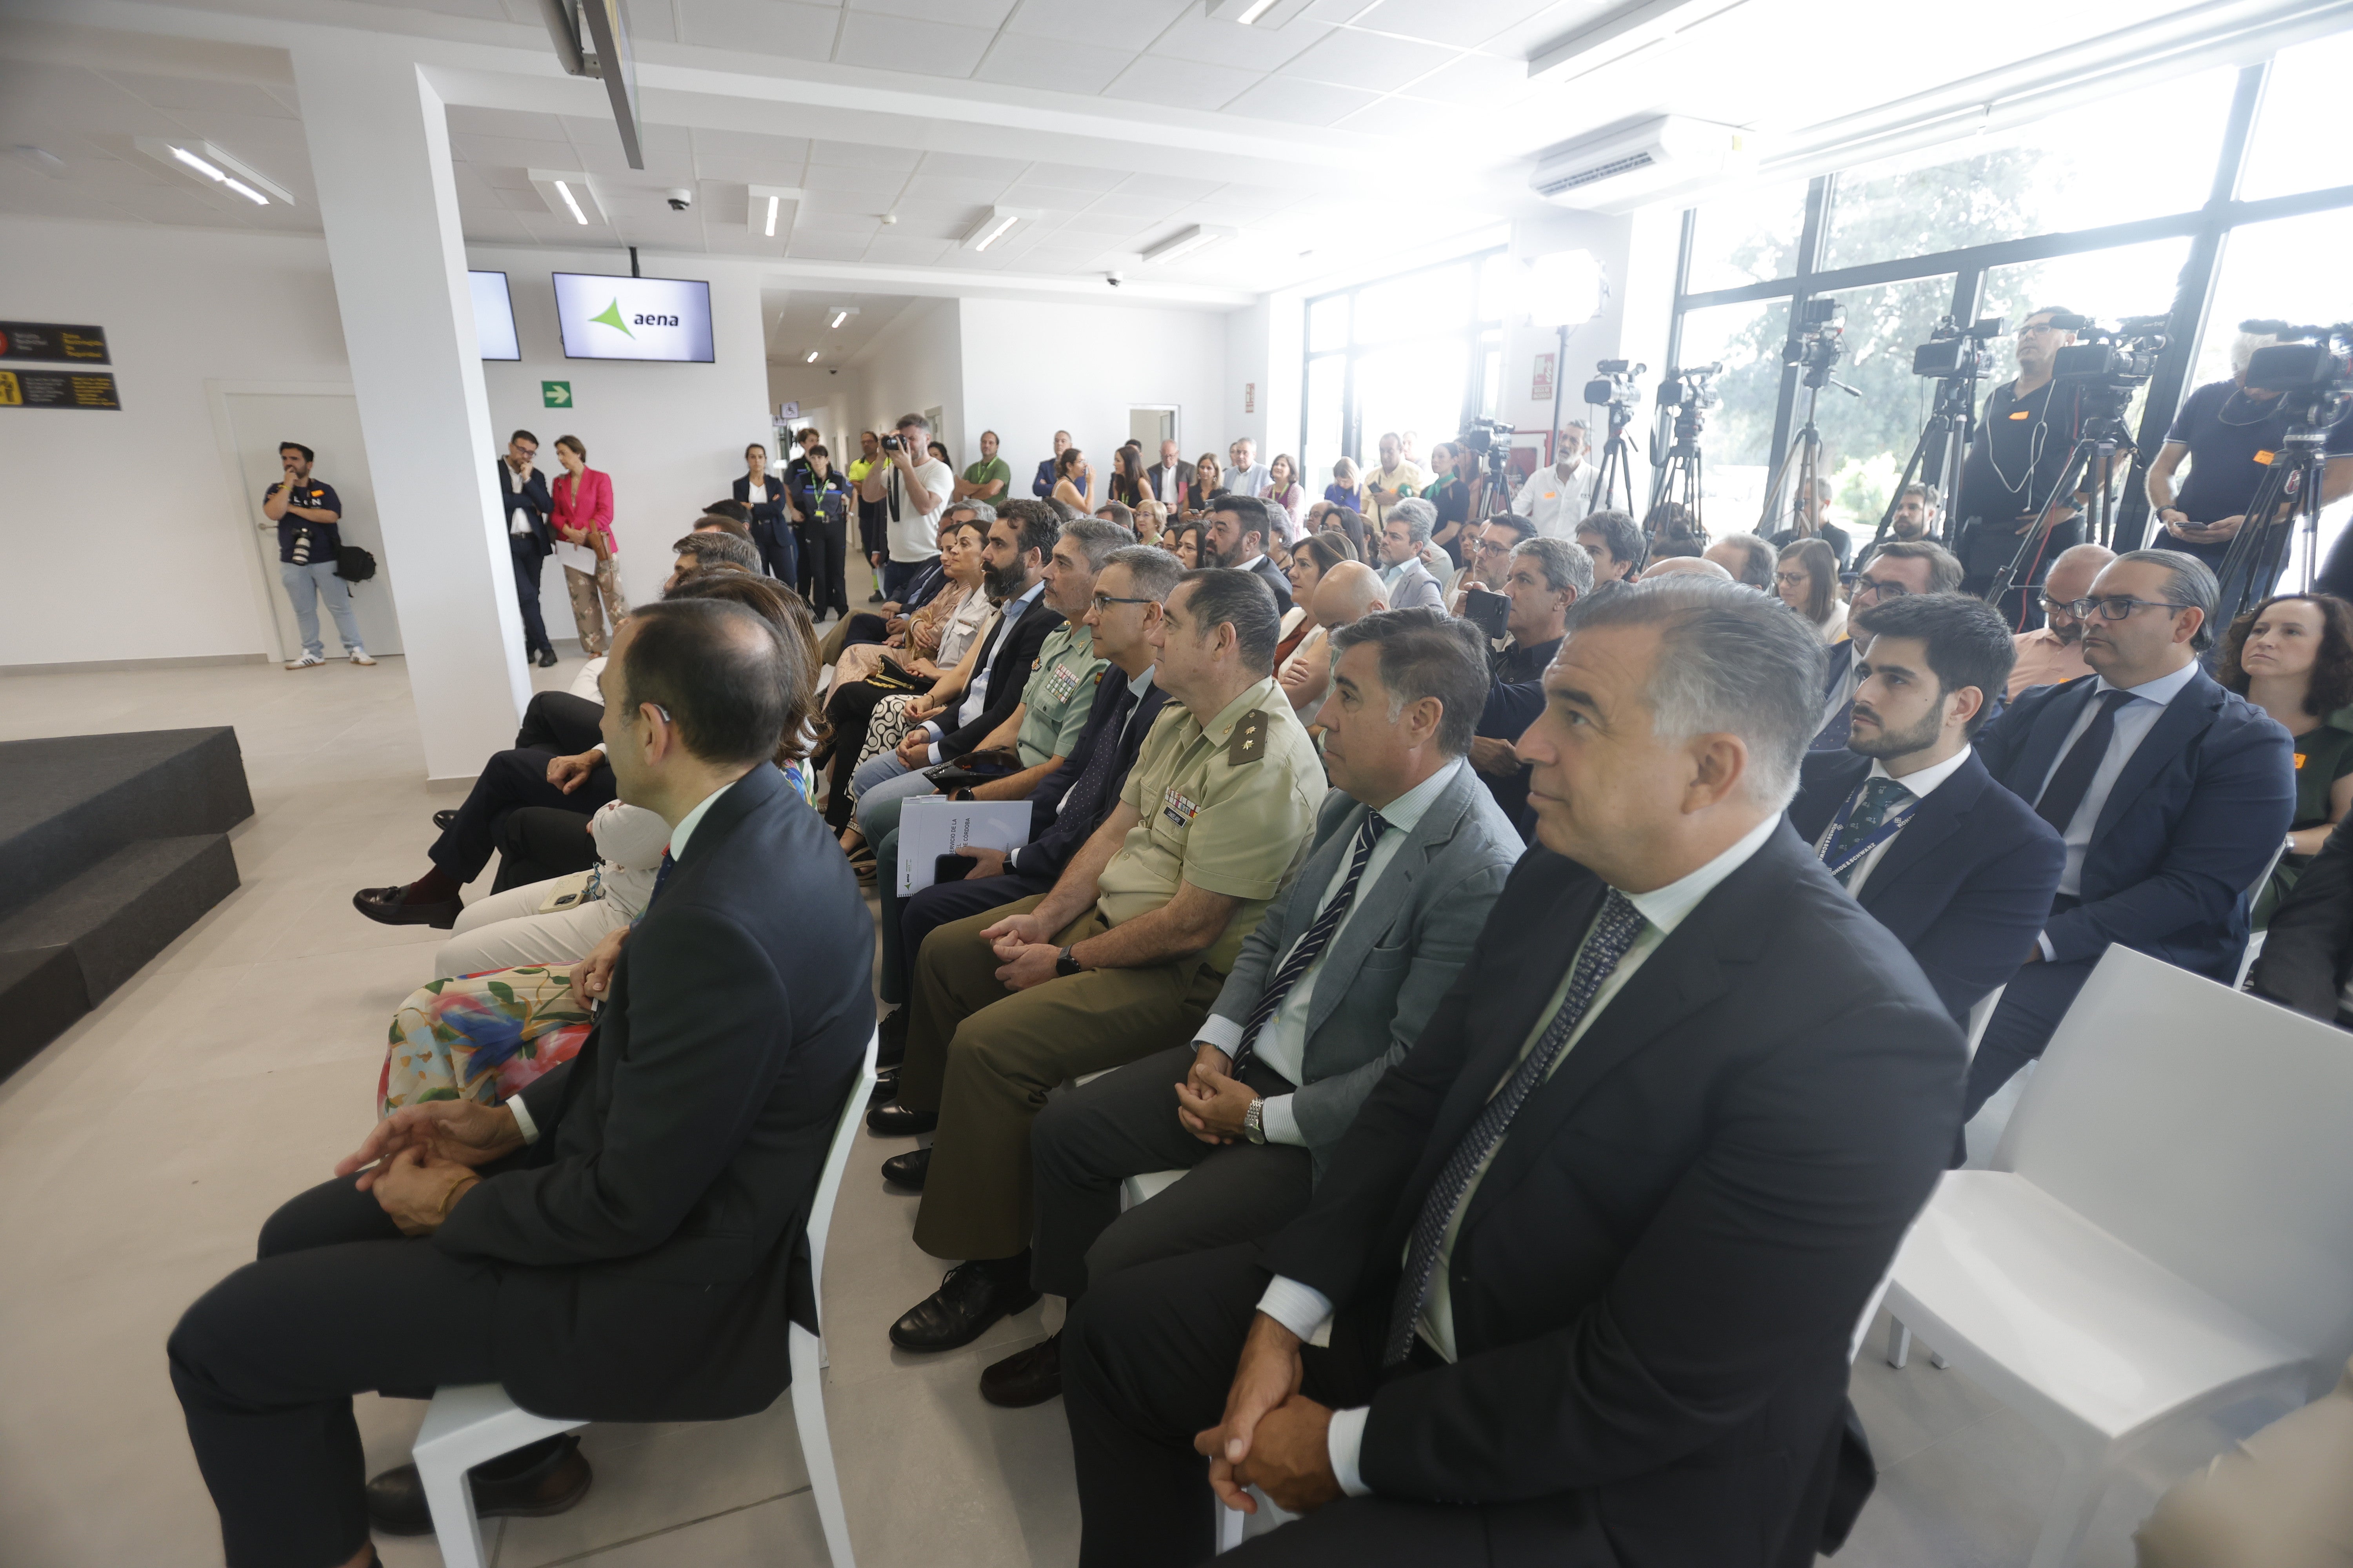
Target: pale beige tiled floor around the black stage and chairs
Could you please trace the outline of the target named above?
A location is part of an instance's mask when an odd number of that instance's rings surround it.
[[[576,670],[534,670],[567,684]],[[162,1340],[252,1258],[261,1218],[367,1131],[384,1027],[431,978],[438,933],[374,926],[351,891],[424,870],[428,816],[402,661],[0,677],[0,738],[235,724],[256,816],[245,886],[0,1086],[0,1563],[202,1566],[216,1521],[188,1458]],[[487,886],[487,884],[485,884]],[[939,1265],[908,1241],[913,1199],[866,1140],[826,1260],[826,1406],[868,1568],[1071,1563],[1078,1507],[1061,1406],[998,1410],[974,1380],[1059,1309],[962,1354],[882,1338]],[[464,1331],[464,1326],[449,1326]],[[421,1328],[431,1331],[431,1326]],[[1840,1566],[2024,1563],[2054,1450],[1925,1354],[1866,1347],[1854,1403],[1882,1465]],[[360,1401],[369,1465],[407,1458],[424,1406]],[[572,1514],[513,1521],[499,1568],[824,1563],[791,1403],[704,1427],[595,1427],[598,1486]],[[2129,1563],[2153,1481],[2115,1488],[2085,1554]],[[431,1542],[386,1542],[395,1568]]]

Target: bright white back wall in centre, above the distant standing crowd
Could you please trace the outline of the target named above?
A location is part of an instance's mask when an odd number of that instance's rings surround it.
[[[1235,411],[1226,409],[1226,320],[1217,310],[967,299],[962,357],[958,463],[976,456],[981,430],[995,430],[1014,470],[1014,496],[1026,496],[1038,463],[1054,456],[1054,430],[1071,433],[1108,496],[1108,463],[1127,440],[1129,407],[1176,407],[1186,458],[1202,451],[1224,458],[1226,444],[1242,435],[1233,425],[1240,386],[1231,388]],[[1146,456],[1155,461],[1158,454]]]

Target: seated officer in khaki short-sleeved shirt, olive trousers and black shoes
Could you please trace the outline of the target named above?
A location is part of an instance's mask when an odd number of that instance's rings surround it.
[[[1052,893],[925,938],[899,1105],[875,1121],[936,1126],[882,1175],[925,1194],[915,1246],[965,1262],[892,1324],[901,1349],[969,1345],[1038,1300],[1031,1119],[1064,1079],[1188,1044],[1306,853],[1327,785],[1273,679],[1278,630],[1257,576],[1188,571],[1153,632],[1169,705],[1118,809]]]

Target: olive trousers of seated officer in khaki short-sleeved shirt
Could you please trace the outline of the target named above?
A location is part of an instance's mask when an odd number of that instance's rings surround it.
[[[1014,992],[981,931],[1035,910],[1024,898],[932,931],[915,959],[899,1103],[939,1112],[915,1246],[934,1258],[1012,1258],[1031,1244],[1031,1121],[1066,1079],[1193,1039],[1226,983],[1198,957],[1089,969]],[[1082,914],[1054,943],[1106,931]]]

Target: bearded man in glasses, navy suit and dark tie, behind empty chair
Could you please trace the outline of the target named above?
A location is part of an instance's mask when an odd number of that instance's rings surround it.
[[[2026,969],[1969,1063],[1967,1114],[2042,1056],[2108,943],[2228,985],[2247,889],[2297,813],[2294,743],[2198,668],[2217,599],[2205,562],[2127,550],[2082,599],[2089,679],[2035,686],[1979,757],[2066,839],[2066,872]]]

